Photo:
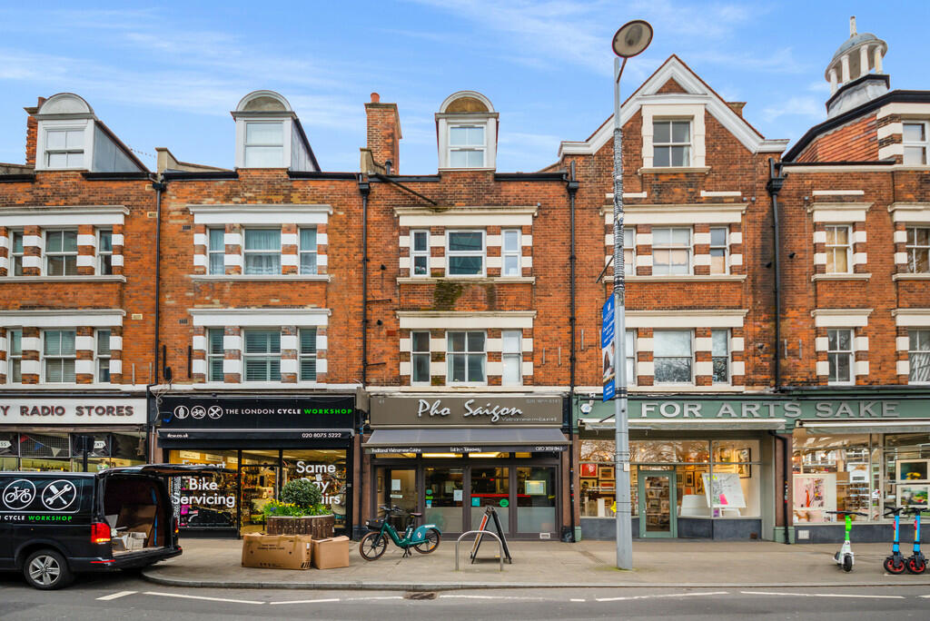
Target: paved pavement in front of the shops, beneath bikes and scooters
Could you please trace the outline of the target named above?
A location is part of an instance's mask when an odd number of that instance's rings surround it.
[[[856,565],[845,573],[832,560],[839,544],[787,546],[773,542],[636,541],[631,571],[615,566],[610,541],[511,541],[512,564],[498,571],[497,543],[486,539],[477,562],[462,542],[460,570],[455,541],[432,554],[402,558],[389,545],[378,561],[365,561],[352,542],[351,565],[327,570],[275,570],[241,566],[242,542],[181,540],[184,553],[149,567],[154,583],[191,588],[295,588],[442,591],[474,588],[790,588],[930,586],[930,573],[887,575],[882,562],[890,544],[855,544]],[[902,547],[903,548],[903,547]],[[905,551],[905,554],[908,554]]]

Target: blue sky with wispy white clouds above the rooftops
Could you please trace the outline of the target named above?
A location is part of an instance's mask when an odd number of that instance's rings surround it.
[[[79,6],[79,7],[78,7]],[[629,95],[671,54],[768,139],[799,139],[826,118],[824,71],[858,32],[888,43],[892,88],[930,89],[930,2],[684,0],[0,0],[0,162],[25,159],[24,106],[73,92],[143,163],[154,148],[233,167],[239,99],[272,89],[297,112],[324,170],[357,171],[371,92],[398,105],[400,172],[435,173],[434,113],[477,90],[500,115],[498,170],[534,171],[561,140],[583,140],[613,110],[613,33],[655,36],[627,64]]]

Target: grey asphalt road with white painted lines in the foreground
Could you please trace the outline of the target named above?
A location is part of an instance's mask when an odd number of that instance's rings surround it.
[[[420,599],[422,598],[422,599]],[[926,619],[930,587],[494,589],[439,593],[170,588],[138,575],[38,591],[0,576],[0,619]]]

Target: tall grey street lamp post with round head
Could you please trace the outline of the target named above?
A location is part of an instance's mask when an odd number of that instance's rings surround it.
[[[627,417],[626,300],[623,273],[623,130],[620,126],[620,75],[627,59],[641,53],[652,41],[647,21],[630,21],[614,34],[614,397],[615,476],[617,478],[617,567],[633,568],[630,499],[630,421]],[[623,59],[623,62],[620,62]],[[642,517],[640,518],[642,519]]]

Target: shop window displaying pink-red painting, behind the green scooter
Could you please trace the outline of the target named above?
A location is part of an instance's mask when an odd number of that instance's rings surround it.
[[[870,483],[870,436],[813,436],[794,432],[794,522],[836,522],[827,511],[866,513],[853,520],[880,519],[879,498]],[[877,467],[877,464],[876,464]],[[842,521],[842,518],[841,518]]]

